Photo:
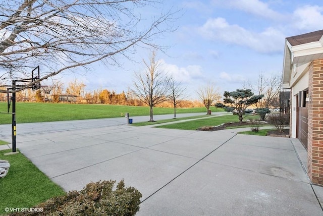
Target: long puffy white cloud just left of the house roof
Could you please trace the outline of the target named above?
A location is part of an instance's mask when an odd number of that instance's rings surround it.
[[[251,32],[239,25],[230,25],[221,17],[208,19],[198,31],[207,39],[247,46],[262,53],[282,51],[285,42],[285,35],[274,28],[267,28],[260,33]]]

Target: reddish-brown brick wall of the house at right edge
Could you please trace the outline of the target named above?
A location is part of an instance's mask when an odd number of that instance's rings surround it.
[[[314,184],[323,185],[323,59],[309,67],[308,94],[308,175]]]

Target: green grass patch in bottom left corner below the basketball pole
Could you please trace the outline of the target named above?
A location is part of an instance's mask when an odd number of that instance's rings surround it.
[[[6,207],[28,208],[65,194],[23,154],[4,155],[8,152],[11,150],[0,151],[0,158],[10,163],[7,176],[0,179],[0,215],[6,213]]]

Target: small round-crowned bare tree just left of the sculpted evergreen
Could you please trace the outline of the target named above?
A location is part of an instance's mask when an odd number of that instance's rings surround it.
[[[220,100],[220,98],[221,98],[221,94],[219,93],[219,89],[216,89],[214,87],[214,85],[209,83],[206,86],[198,89],[197,94],[207,110],[206,114],[210,115],[210,106],[214,102]]]

